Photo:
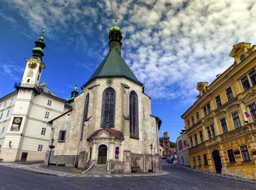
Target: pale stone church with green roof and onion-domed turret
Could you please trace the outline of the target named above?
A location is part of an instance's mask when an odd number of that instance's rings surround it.
[[[108,38],[108,55],[82,93],[71,94],[73,109],[49,121],[55,139],[50,162],[88,172],[93,165],[105,166],[108,173],[131,173],[132,167],[161,171],[162,121],[151,115],[143,83],[121,57],[122,30],[111,27]]]

